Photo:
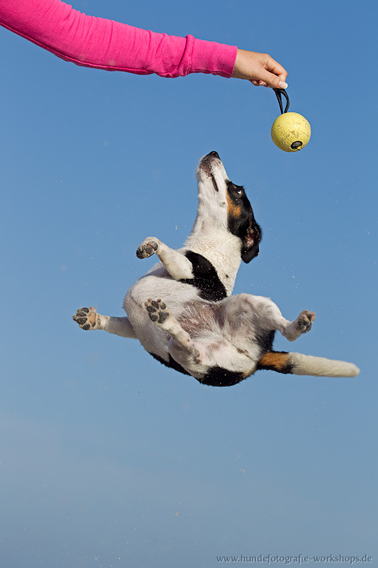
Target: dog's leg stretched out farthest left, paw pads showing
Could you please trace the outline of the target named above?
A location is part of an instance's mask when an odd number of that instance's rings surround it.
[[[101,315],[94,307],[80,307],[74,314],[73,319],[79,327],[85,329],[103,329],[105,332],[113,333],[129,339],[137,339],[133,328],[127,317],[114,317]]]

